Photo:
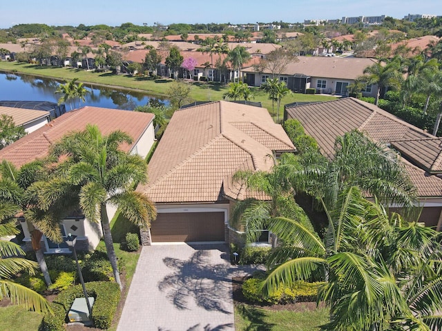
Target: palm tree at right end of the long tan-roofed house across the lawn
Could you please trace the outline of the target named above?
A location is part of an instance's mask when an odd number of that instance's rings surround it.
[[[367,82],[378,86],[376,100],[374,101],[376,106],[378,106],[381,88],[401,86],[401,62],[396,57],[386,63],[385,66],[382,61],[374,63],[364,69],[364,74],[367,74]]]

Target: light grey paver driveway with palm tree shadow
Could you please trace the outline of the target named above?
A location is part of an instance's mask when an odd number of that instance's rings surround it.
[[[234,330],[226,245],[144,246],[117,331]]]

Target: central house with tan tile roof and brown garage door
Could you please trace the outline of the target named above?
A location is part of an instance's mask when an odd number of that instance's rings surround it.
[[[235,241],[231,208],[251,193],[233,174],[269,171],[282,152],[295,148],[265,108],[216,101],[177,110],[149,162],[149,183],[137,188],[158,213],[142,243]]]

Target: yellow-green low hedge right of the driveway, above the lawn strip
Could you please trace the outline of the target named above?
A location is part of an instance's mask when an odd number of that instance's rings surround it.
[[[242,284],[242,294],[251,303],[265,303],[270,305],[285,304],[294,302],[316,301],[318,289],[322,282],[307,283],[305,281],[296,281],[293,286],[286,287],[280,285],[279,288],[265,297],[260,290],[262,278],[250,278]]]

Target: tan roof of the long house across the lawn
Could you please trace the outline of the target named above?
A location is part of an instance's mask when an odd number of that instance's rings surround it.
[[[311,77],[332,79],[356,79],[364,69],[376,63],[373,59],[354,57],[298,57],[297,62],[290,63],[282,74],[307,74]],[[255,72],[255,68],[242,69],[242,72]],[[264,71],[264,73],[270,73]]]

